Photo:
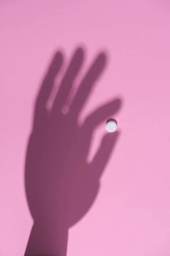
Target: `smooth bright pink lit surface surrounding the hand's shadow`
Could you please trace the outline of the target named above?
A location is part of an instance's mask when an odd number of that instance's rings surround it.
[[[122,105],[115,114],[107,108],[88,145],[91,163],[107,118],[116,118],[120,136],[99,190],[91,176],[96,198],[68,225],[67,255],[170,255],[169,1],[1,1],[0,30],[0,255],[25,253],[35,218],[25,187],[35,99],[55,52],[64,55],[61,80],[77,47],[84,57],[75,89],[96,56],[106,58],[79,125],[113,99]]]

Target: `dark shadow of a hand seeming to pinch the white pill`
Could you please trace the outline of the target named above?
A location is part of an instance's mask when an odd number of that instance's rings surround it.
[[[79,48],[48,111],[46,104],[62,66],[62,54],[57,52],[37,96],[26,155],[26,195],[34,219],[26,256],[66,256],[68,229],[92,206],[119,135],[117,131],[105,135],[92,163],[87,162],[94,128],[116,113],[121,101],[108,102],[78,125],[79,113],[105,67],[106,55],[100,53],[79,85],[68,114],[63,114],[82,62],[83,50]]]

